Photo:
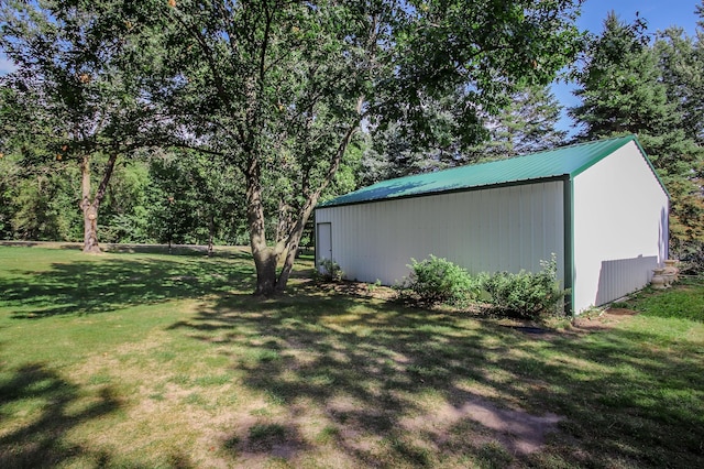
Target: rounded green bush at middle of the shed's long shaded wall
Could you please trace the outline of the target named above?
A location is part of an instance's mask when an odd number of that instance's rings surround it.
[[[403,298],[420,303],[449,303],[463,305],[475,299],[481,291],[481,279],[473,277],[447,259],[430,258],[417,262],[411,259],[409,277],[398,287]]]

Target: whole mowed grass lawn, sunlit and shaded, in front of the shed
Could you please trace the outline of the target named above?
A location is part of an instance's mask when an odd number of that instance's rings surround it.
[[[704,467],[701,281],[536,335],[310,269],[0,247],[0,467]]]

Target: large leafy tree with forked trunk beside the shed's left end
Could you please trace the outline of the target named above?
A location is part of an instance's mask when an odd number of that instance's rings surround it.
[[[154,0],[165,21],[150,99],[180,144],[242,172],[255,293],[268,295],[285,288],[306,221],[362,122],[432,143],[426,113],[440,105],[459,141],[475,143],[479,109],[517,85],[547,84],[573,58],[580,3]]]

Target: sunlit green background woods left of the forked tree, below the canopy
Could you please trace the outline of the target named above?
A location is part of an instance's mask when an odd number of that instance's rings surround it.
[[[82,241],[77,165],[25,166],[6,155],[0,172],[0,238]],[[100,240],[246,244],[241,187],[237,174],[202,155],[138,154],[113,170],[101,206]]]

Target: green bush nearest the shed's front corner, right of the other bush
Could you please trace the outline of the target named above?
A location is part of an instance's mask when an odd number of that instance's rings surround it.
[[[484,287],[494,307],[521,317],[538,318],[546,313],[558,313],[566,292],[560,288],[554,254],[550,261],[541,261],[542,271],[514,274],[498,272]]]

